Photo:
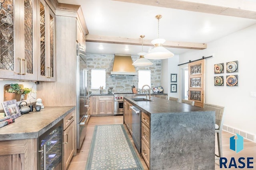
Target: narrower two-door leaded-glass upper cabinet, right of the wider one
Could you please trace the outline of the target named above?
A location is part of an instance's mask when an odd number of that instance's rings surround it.
[[[38,80],[56,81],[55,15],[43,0],[40,1],[38,14]]]

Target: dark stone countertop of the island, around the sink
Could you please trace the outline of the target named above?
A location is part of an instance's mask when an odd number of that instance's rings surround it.
[[[164,98],[152,97],[151,102],[140,101],[135,102],[132,98],[141,98],[141,96],[125,96],[124,99],[128,100],[131,104],[134,104],[138,109],[142,110],[144,113],[150,116],[154,113],[181,113],[181,112],[194,112],[194,111],[207,111],[207,109],[190,106],[188,104],[183,104],[179,102],[174,102],[171,100],[166,100]]]

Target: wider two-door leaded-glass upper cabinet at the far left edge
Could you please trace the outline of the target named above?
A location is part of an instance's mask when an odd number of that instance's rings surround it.
[[[1,2],[0,78],[37,80],[36,5],[37,0]]]

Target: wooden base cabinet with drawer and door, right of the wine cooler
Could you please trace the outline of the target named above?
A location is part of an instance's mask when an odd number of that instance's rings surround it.
[[[75,123],[74,123],[75,111],[72,111],[63,119],[63,163],[64,170],[67,169],[68,164],[75,151]]]

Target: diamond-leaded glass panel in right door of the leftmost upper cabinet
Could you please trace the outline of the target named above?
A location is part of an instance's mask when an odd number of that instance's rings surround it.
[[[25,33],[25,59],[27,60],[27,73],[33,74],[33,30],[32,30],[32,1],[24,1],[24,33]]]

